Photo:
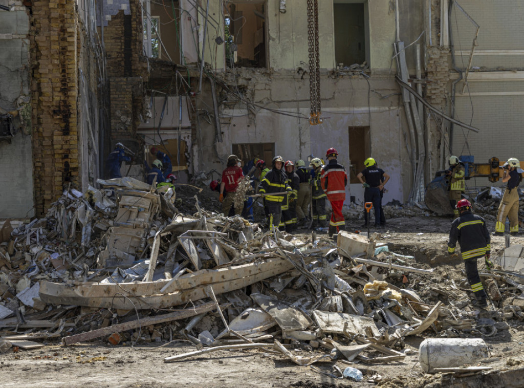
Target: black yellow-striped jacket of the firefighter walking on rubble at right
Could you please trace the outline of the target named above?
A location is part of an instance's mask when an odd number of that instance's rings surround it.
[[[486,221],[471,211],[463,212],[451,224],[450,241],[447,252],[455,253],[457,241],[460,244],[462,258],[482,257],[491,251],[490,236]]]

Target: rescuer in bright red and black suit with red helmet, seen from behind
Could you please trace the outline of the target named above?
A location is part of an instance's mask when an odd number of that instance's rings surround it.
[[[328,230],[330,237],[333,233],[344,230],[345,225],[342,205],[346,199],[347,174],[344,166],[336,159],[338,155],[339,153],[336,152],[335,148],[330,148],[326,151],[328,165],[322,168],[321,175],[322,189],[328,196],[332,209]]]

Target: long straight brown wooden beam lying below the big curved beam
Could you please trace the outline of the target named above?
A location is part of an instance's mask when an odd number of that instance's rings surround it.
[[[163,322],[170,322],[179,319],[185,319],[189,317],[194,317],[195,315],[202,314],[203,312],[211,311],[215,308],[214,303],[209,302],[194,308],[178,310],[169,312],[168,314],[157,315],[155,317],[144,317],[142,319],[137,319],[130,322],[124,322],[123,324],[117,324],[113,326],[104,327],[102,329],[92,330],[85,333],[76,334],[74,336],[62,338],[62,342],[65,345],[70,345],[76,342],[89,341],[95,338],[100,338],[104,336],[110,336],[116,331],[126,331],[131,329],[136,329],[137,327],[144,327],[148,325],[161,324]]]

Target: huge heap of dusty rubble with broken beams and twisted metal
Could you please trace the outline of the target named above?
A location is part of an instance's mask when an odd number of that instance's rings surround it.
[[[194,193],[177,189],[177,203],[143,182],[103,181],[64,191],[45,218],[4,223],[0,341],[189,340],[194,352],[165,361],[258,348],[346,367],[406,361],[416,354],[407,336],[489,338],[522,327],[522,249],[494,257],[495,273],[481,271],[493,306],[479,311],[465,276],[420,268],[379,234],[341,232],[335,243],[264,232],[206,210]],[[193,213],[179,212],[190,203]],[[510,254],[515,265],[504,269]]]

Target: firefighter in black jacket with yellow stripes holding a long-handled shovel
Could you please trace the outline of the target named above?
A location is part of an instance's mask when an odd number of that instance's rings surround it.
[[[283,164],[284,159],[280,155],[275,156],[271,163],[271,170],[264,175],[264,178],[260,179],[260,184],[258,185],[258,191],[265,194],[264,208],[270,229],[278,228],[282,213],[282,202],[286,197],[283,194],[271,195],[271,193],[292,191],[287,183],[287,176],[282,169]]]

